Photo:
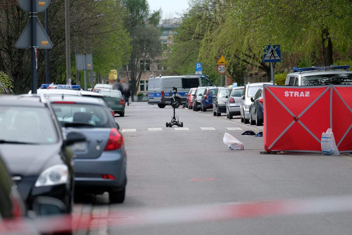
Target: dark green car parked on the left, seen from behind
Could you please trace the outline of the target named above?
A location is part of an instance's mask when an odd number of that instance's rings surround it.
[[[125,99],[120,91],[101,89],[99,94],[103,96],[110,109],[118,113],[120,117],[125,116]]]

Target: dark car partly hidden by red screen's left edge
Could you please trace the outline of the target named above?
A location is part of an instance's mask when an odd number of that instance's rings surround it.
[[[249,122],[251,125],[257,124],[257,126],[260,126],[264,120],[263,87],[259,88],[254,98],[251,97],[251,101],[252,104],[249,106]]]

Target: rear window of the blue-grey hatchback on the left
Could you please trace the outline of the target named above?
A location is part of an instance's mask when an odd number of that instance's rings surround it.
[[[103,106],[65,103],[54,103],[52,106],[62,126],[114,127],[111,122],[111,114]]]

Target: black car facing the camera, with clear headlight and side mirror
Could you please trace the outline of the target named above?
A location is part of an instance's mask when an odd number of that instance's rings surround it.
[[[48,197],[61,208],[52,214],[71,212],[74,172],[67,147],[84,142],[85,136],[70,132],[64,137],[43,95],[1,96],[0,130],[0,152],[27,209]]]

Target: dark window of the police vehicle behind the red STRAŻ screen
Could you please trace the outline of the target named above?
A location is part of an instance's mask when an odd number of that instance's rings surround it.
[[[301,86],[351,85],[352,73],[321,74],[301,77]]]

